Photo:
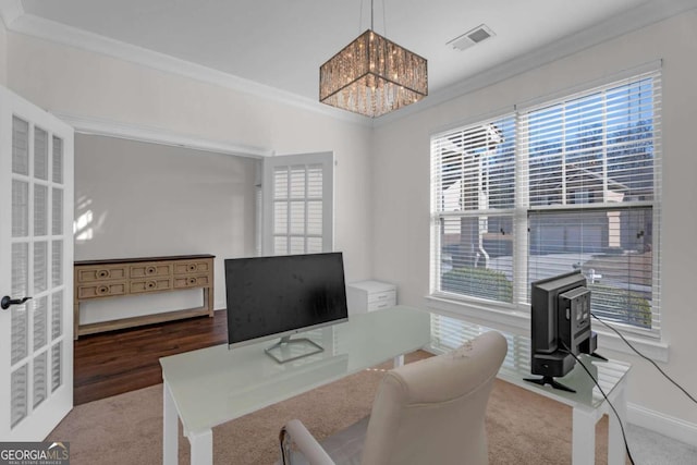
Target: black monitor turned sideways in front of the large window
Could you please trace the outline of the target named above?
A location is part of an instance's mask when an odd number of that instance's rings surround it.
[[[530,371],[539,384],[573,391],[557,382],[574,368],[578,354],[595,354],[590,329],[590,291],[580,271],[535,281],[530,285]]]

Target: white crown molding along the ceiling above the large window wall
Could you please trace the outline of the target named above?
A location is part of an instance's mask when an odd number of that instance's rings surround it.
[[[437,107],[454,98],[503,82],[515,75],[535,70],[603,41],[694,9],[697,9],[697,0],[647,1],[624,14],[610,17],[577,34],[557,40],[546,47],[490,68],[442,90],[432,93],[428,98],[377,119],[375,126],[379,127],[428,108]]]

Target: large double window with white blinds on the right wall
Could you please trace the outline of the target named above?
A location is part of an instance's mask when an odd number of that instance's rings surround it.
[[[527,307],[580,270],[594,313],[660,329],[659,71],[431,139],[431,290]]]

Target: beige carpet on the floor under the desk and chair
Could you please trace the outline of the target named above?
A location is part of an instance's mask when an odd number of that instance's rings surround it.
[[[423,356],[411,354],[407,362]],[[353,424],[370,412],[380,377],[380,370],[366,370],[213,428],[213,462],[272,464],[279,428],[292,418],[318,439]],[[487,432],[492,465],[571,463],[571,408],[516,386],[497,380]],[[606,438],[603,419],[597,464],[607,463]],[[69,441],[72,465],[162,463],[162,386],[78,405],[47,440]],[[188,441],[180,437],[180,463],[188,462]]]

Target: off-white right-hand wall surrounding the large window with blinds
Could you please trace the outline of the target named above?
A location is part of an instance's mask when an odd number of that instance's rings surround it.
[[[400,301],[424,306],[429,289],[429,137],[492,111],[590,83],[663,59],[663,256],[662,339],[670,344],[663,368],[697,394],[697,13],[695,11],[607,41],[531,72],[494,84],[409,118],[376,129],[374,274],[399,284]],[[395,167],[399,167],[396,169]],[[603,351],[606,352],[606,351]],[[634,364],[632,404],[648,409],[644,420],[676,425],[682,419],[697,443],[697,406],[650,365],[623,353],[608,355]],[[638,408],[633,409],[636,414]],[[635,418],[637,418],[635,416]],[[641,420],[641,418],[637,418]],[[656,427],[653,425],[647,425]],[[685,432],[685,431],[683,431]],[[680,435],[680,432],[677,433]]]

